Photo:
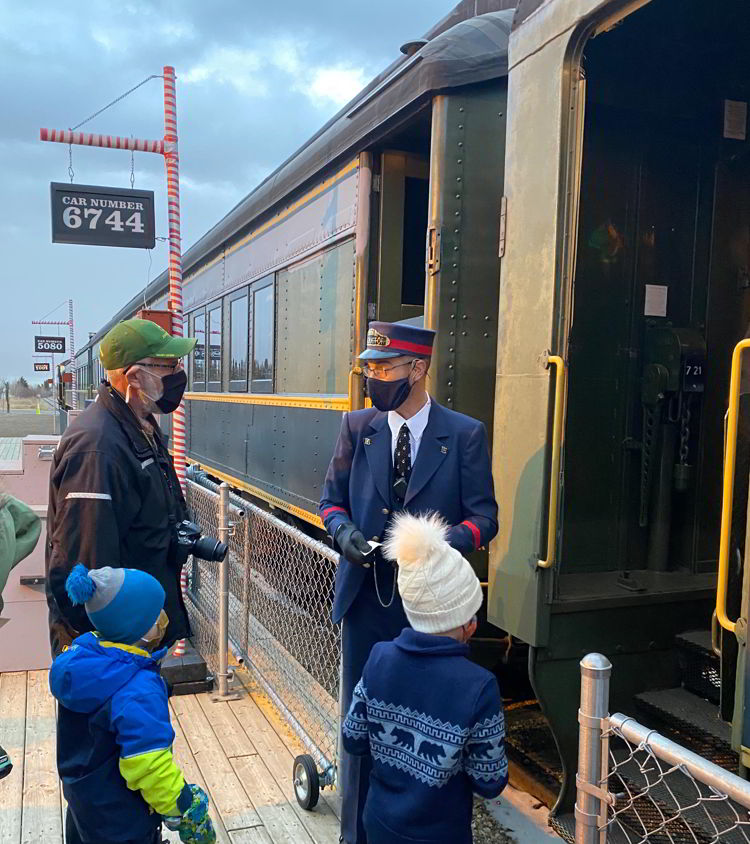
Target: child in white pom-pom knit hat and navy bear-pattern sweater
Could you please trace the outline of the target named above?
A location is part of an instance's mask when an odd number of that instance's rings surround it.
[[[411,627],[372,649],[342,729],[349,753],[372,756],[368,844],[471,844],[472,793],[508,781],[500,689],[468,658],[482,588],[447,532],[403,512],[383,546]]]

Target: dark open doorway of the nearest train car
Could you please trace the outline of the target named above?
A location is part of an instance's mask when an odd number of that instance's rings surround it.
[[[584,49],[560,597],[713,590],[750,321],[748,35],[740,0],[654,0]]]

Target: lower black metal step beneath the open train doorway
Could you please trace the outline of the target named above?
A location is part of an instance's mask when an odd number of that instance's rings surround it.
[[[644,692],[635,702],[647,726],[728,771],[737,770],[730,727],[719,719],[718,707],[682,688]]]

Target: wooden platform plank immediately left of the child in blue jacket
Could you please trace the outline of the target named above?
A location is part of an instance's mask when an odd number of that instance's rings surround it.
[[[21,844],[62,841],[60,783],[55,747],[55,700],[47,671],[29,671]]]

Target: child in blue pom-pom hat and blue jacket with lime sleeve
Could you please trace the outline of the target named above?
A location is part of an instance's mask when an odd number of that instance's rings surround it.
[[[172,758],[174,730],[159,673],[164,590],[146,572],[80,563],[66,581],[95,632],[50,669],[60,703],[57,767],[67,844],[158,844],[162,822],[186,844],[213,844],[208,798]]]

